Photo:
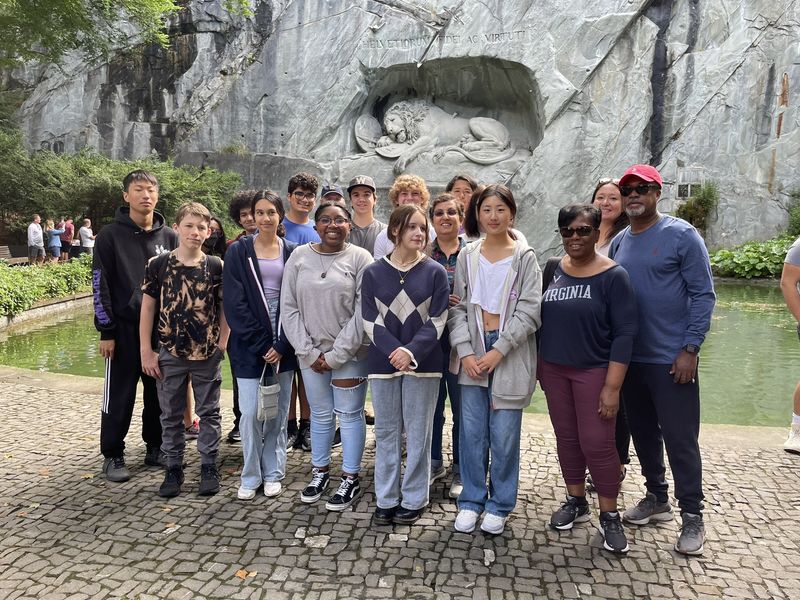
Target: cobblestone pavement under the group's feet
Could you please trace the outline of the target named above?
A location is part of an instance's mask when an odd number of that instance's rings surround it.
[[[136,425],[127,454],[133,477],[109,484],[97,450],[100,388],[96,379],[0,368],[0,598],[800,594],[800,457],[780,450],[783,430],[705,427],[705,554],[673,551],[675,521],[628,528],[631,551],[619,558],[602,550],[596,508],[570,532],[548,529],[563,488],[546,417],[525,417],[519,502],[505,533],[493,537],[453,530],[448,479],[436,482],[417,525],[371,526],[371,431],[366,492],[343,514],[299,501],[310,470],[300,451],[289,457],[281,496],[237,500],[240,453],[227,444],[220,494],[196,495],[199,459],[190,443],[184,492],[161,499],[162,475],[143,465]],[[229,396],[223,405],[229,425]],[[337,452],[334,469],[340,464]],[[626,479],[623,504],[638,499],[641,481]]]

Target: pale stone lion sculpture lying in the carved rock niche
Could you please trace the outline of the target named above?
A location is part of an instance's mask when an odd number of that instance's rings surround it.
[[[505,125],[487,117],[457,117],[424,100],[404,100],[389,107],[383,119],[386,135],[375,151],[397,158],[394,172],[402,173],[423,152],[438,162],[458,152],[479,165],[492,165],[514,156],[516,149]]]

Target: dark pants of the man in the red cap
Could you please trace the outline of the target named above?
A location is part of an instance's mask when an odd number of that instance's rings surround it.
[[[700,459],[700,384],[672,380],[672,365],[631,363],[622,397],[633,445],[642,465],[647,491],[659,502],[669,499],[665,478],[667,450],[675,496],[682,512],[703,509],[703,467]]]

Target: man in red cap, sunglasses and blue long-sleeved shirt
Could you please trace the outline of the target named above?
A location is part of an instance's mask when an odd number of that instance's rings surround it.
[[[639,306],[622,397],[647,487],[623,519],[672,520],[666,447],[683,520],[675,550],[697,555],[705,541],[697,363],[716,301],[711,265],[697,230],[656,209],[662,180],[655,168],[634,165],[619,186],[631,223],[614,238],[609,257],[628,271]]]

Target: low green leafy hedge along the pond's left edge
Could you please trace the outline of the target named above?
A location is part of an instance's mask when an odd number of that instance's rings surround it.
[[[11,267],[0,262],[0,315],[17,315],[40,300],[63,298],[92,289],[92,257],[66,263]]]

